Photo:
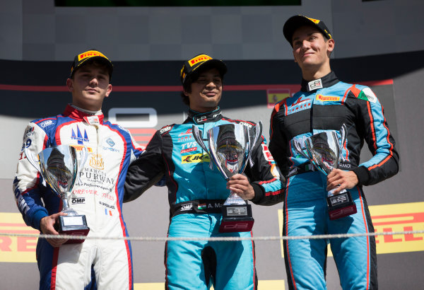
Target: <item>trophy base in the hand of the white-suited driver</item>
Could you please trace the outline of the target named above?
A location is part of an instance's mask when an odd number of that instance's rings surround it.
[[[87,226],[86,216],[59,216],[58,231],[62,235],[87,236],[90,228]],[[69,239],[64,244],[83,243],[83,239]]]

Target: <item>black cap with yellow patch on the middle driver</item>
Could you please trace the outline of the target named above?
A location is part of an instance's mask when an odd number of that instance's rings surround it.
[[[181,83],[184,85],[184,81],[189,78],[192,78],[193,76],[196,76],[196,73],[198,71],[201,71],[199,68],[218,69],[221,76],[223,76],[227,72],[227,65],[222,60],[213,59],[212,57],[209,57],[206,54],[199,54],[196,55],[196,57],[193,57],[192,59],[189,59],[184,62],[181,69],[181,73],[179,75]]]

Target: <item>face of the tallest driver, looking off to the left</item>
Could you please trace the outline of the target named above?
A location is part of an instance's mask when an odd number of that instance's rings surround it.
[[[327,39],[312,26],[301,26],[293,33],[293,57],[302,69],[303,79],[319,79],[331,71],[330,54],[334,40]]]

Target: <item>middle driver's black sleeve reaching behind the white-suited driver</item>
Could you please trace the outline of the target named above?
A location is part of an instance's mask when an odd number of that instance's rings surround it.
[[[165,173],[162,156],[162,137],[157,131],[141,153],[128,168],[124,185],[124,202],[139,197],[143,192],[155,185]]]

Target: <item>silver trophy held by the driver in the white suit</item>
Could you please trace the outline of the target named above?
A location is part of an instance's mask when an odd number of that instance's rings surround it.
[[[59,223],[55,228],[59,233],[72,236],[87,236],[90,228],[87,226],[86,216],[69,207],[68,195],[72,191],[73,184],[78,173],[78,158],[76,149],[69,145],[52,146],[37,154],[25,148],[25,156],[28,161],[40,172],[42,178],[61,197],[62,211],[66,216],[59,216]],[[82,167],[86,161],[87,149],[83,147],[80,152],[80,164]],[[84,240],[70,239],[66,243],[83,243]]]

